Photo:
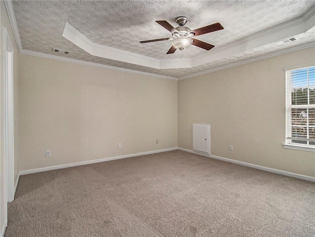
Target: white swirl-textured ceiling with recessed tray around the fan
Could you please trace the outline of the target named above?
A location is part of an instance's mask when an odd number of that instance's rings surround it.
[[[25,50],[59,55],[53,48],[70,51],[63,57],[96,62],[171,77],[183,77],[231,62],[277,52],[314,42],[314,27],[297,35],[290,44],[268,44],[198,67],[154,69],[117,60],[91,56],[63,38],[68,22],[95,43],[157,59],[191,58],[210,54],[195,46],[166,55],[169,41],[140,44],[141,40],[170,37],[171,33],[156,20],[177,27],[178,16],[188,17],[191,30],[220,22],[224,30],[197,36],[220,48],[244,37],[303,16],[315,5],[314,0],[13,0],[13,9],[22,47]]]

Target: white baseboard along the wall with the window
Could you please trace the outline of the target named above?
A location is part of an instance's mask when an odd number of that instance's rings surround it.
[[[232,160],[232,159],[228,159],[228,158],[224,158],[224,157],[220,157],[220,156],[216,156],[216,155],[207,155],[207,154],[197,153],[197,152],[194,152],[194,151],[189,150],[189,149],[184,149],[184,148],[178,148],[178,149],[182,150],[182,151],[190,152],[190,153],[193,153],[196,155],[207,156],[207,157],[217,159],[217,160],[222,160],[222,161],[227,161],[227,162],[238,164],[238,165],[248,166],[248,167],[251,167],[254,169],[258,169],[258,170],[268,171],[268,172],[272,172],[272,173],[276,173],[276,174],[280,174],[280,175],[284,175],[284,176],[300,178],[300,179],[315,182],[315,177],[311,177],[311,176],[299,175],[299,174],[295,174],[295,173],[291,173],[291,172],[287,172],[287,171],[283,171],[283,170],[276,170],[276,169],[272,169],[272,168],[268,168],[268,167],[264,167],[264,166],[260,166],[260,165],[253,165],[251,163],[246,163],[246,162],[238,161],[238,160]]]

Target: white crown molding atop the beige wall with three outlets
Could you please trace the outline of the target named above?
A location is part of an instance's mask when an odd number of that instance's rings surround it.
[[[46,58],[46,59],[54,59],[54,60],[59,60],[59,61],[64,61],[64,62],[78,63],[81,65],[106,68],[106,69],[111,69],[111,70],[116,70],[116,71],[129,72],[129,73],[135,73],[135,74],[140,74],[140,75],[145,75],[145,76],[150,76],[150,77],[158,77],[158,78],[177,81],[176,77],[163,76],[163,75],[159,75],[159,74],[136,71],[136,70],[131,70],[131,69],[122,68],[122,67],[114,67],[114,66],[104,65],[104,64],[95,63],[95,62],[88,62],[88,61],[83,61],[83,60],[78,60],[78,59],[70,59],[70,58],[65,58],[65,57],[56,56],[56,55],[34,52],[31,50],[23,49],[20,53],[25,54],[25,55],[35,56],[35,57]]]

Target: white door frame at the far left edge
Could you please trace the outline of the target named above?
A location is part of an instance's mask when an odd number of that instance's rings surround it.
[[[7,202],[14,200],[14,101],[13,47],[4,27],[4,162],[6,170]]]

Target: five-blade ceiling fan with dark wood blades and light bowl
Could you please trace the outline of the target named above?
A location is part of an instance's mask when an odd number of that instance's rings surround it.
[[[212,44],[208,44],[206,42],[203,42],[201,40],[198,40],[192,37],[210,33],[217,30],[223,30],[224,28],[221,26],[220,23],[215,23],[206,27],[196,29],[196,30],[190,30],[188,27],[184,27],[184,25],[187,23],[187,20],[188,19],[185,16],[178,17],[176,19],[176,23],[179,25],[179,27],[176,27],[176,28],[172,27],[167,21],[156,21],[159,25],[164,27],[166,30],[172,32],[173,37],[145,40],[145,41],[140,41],[140,43],[150,43],[150,42],[157,42],[157,41],[163,41],[163,40],[170,40],[172,47],[168,50],[166,54],[173,54],[177,49],[182,51],[186,49],[187,47],[189,47],[191,44],[205,50],[211,50],[213,47],[215,47]]]

